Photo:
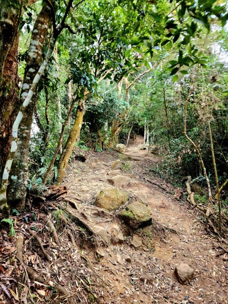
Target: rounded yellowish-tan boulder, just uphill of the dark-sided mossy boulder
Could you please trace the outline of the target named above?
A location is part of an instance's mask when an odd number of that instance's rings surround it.
[[[98,194],[95,205],[97,207],[112,211],[126,204],[128,199],[129,196],[127,192],[117,188],[107,188]]]

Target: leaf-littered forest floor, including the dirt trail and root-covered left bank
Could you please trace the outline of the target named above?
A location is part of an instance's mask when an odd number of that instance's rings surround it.
[[[86,162],[73,161],[67,170],[65,200],[39,202],[27,214],[17,216],[16,233],[26,240],[23,261],[14,258],[16,238],[2,231],[0,303],[228,303],[227,254],[201,223],[199,213],[184,199],[175,199],[174,187],[149,175],[151,165],[161,160],[139,150],[142,141],[138,137],[125,152],[131,159],[116,151],[88,152]],[[135,157],[140,160],[132,160]],[[112,170],[117,159],[124,166]],[[105,213],[94,206],[97,194],[110,187],[107,179],[117,175],[129,181],[124,190],[131,200],[139,197],[151,209],[151,226],[129,230],[118,218],[118,211]],[[59,245],[47,227],[50,218],[57,226]],[[123,244],[107,246],[87,229],[87,225],[100,225],[107,230],[113,223],[122,229]],[[34,226],[50,261],[27,231]],[[141,242],[139,247],[133,238]],[[195,269],[191,284],[179,284],[174,275],[181,262]],[[36,271],[41,280],[29,280],[26,267]],[[69,295],[60,295],[53,287],[56,283]],[[27,299],[22,301],[21,294],[26,292]]]

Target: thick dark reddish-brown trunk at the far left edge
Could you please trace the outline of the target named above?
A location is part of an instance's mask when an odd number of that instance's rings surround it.
[[[21,6],[0,2],[0,183],[10,152],[13,122],[19,109],[18,44]]]

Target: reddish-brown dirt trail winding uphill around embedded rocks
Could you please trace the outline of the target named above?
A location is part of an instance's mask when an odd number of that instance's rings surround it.
[[[117,174],[130,177],[134,182],[125,190],[143,195],[153,218],[178,232],[177,235],[167,230],[165,240],[155,235],[155,250],[145,246],[134,249],[129,246],[132,236],[127,236],[123,245],[101,248],[104,257],[99,261],[92,249],[84,252],[102,278],[97,280],[101,290],[100,302],[227,303],[227,257],[221,254],[216,240],[206,233],[196,211],[187,203],[176,201],[163,189],[143,181],[139,172],[146,171],[146,166],[160,160],[148,151],[138,149],[142,141],[142,137],[137,137],[126,154],[147,161],[125,160],[125,170],[115,172],[110,169],[111,164],[118,157],[123,159],[123,155],[108,151],[90,153],[85,163],[74,162],[64,179],[68,198],[91,206],[97,194],[110,186],[108,177]],[[116,211],[112,214],[115,215]],[[148,233],[149,241],[150,238]],[[126,256],[130,257],[128,262]],[[180,262],[195,269],[191,285],[179,284],[174,276],[174,268]],[[149,283],[144,281],[148,275],[153,276]]]

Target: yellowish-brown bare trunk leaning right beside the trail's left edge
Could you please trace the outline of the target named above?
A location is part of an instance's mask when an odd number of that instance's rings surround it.
[[[78,103],[74,124],[69,133],[69,137],[66,141],[64,149],[62,151],[62,155],[59,160],[58,182],[57,182],[58,185],[60,185],[63,181],[63,177],[65,175],[65,171],[66,171],[66,168],[68,165],[70,154],[73,150],[74,143],[80,134],[80,130],[81,130],[82,124],[83,124],[84,113],[85,113],[85,97],[84,97],[84,99],[81,99]]]

